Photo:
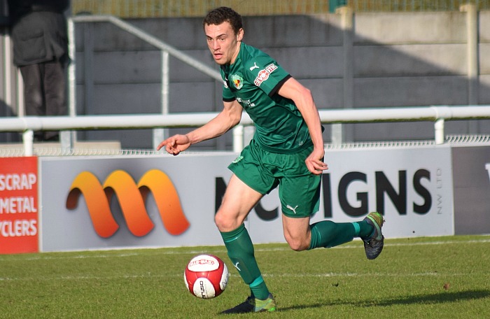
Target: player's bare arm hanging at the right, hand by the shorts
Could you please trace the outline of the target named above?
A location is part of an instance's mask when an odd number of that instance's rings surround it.
[[[281,97],[293,100],[303,116],[314,146],[313,152],[311,152],[304,162],[311,173],[321,174],[322,171],[328,169],[328,166],[323,162],[325,148],[323,146],[320,115],[318,115],[318,109],[316,108],[311,91],[294,78],[289,78],[279,88],[278,93]]]

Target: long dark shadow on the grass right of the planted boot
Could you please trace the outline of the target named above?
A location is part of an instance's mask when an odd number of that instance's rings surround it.
[[[297,306],[290,306],[286,308],[280,307],[279,311],[288,311],[296,309],[312,309],[321,308],[325,306],[339,306],[339,305],[351,305],[356,307],[371,307],[371,306],[393,306],[393,305],[407,305],[407,304],[443,304],[446,302],[456,302],[460,300],[472,300],[483,299],[490,297],[490,290],[468,290],[461,292],[440,292],[433,295],[418,295],[418,296],[405,296],[394,299],[385,300],[361,300],[361,301],[326,301],[323,304],[302,304]]]

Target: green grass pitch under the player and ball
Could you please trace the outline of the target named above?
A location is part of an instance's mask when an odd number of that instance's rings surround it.
[[[232,274],[218,298],[190,295],[183,269],[197,253]],[[490,236],[386,240],[296,253],[255,246],[279,311],[224,318],[488,318]],[[444,285],[449,284],[449,289]],[[0,318],[214,318],[248,295],[223,247],[0,255]]]

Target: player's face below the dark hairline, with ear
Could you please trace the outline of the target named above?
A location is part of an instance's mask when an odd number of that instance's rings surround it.
[[[232,64],[237,58],[240,41],[244,36],[244,30],[240,29],[238,34],[233,32],[230,22],[222,24],[206,24],[204,33],[208,48],[217,64]]]

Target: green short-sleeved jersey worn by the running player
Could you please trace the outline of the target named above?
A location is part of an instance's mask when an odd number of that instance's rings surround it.
[[[277,94],[290,75],[269,55],[241,43],[235,63],[221,66],[223,101],[241,104],[255,125],[253,139],[272,153],[311,146],[306,122],[294,102]]]

